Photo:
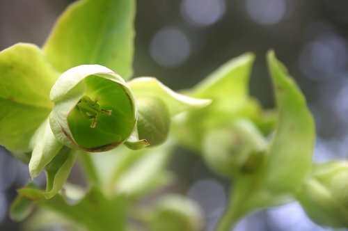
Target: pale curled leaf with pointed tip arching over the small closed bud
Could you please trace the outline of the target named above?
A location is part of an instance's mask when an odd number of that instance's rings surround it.
[[[155,97],[161,99],[169,109],[171,116],[189,109],[200,109],[210,104],[210,99],[195,99],[175,93],[164,86],[160,81],[152,77],[139,77],[129,81],[136,99],[141,97]]]

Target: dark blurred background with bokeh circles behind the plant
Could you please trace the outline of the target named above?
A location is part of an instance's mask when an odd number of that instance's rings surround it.
[[[71,2],[0,0],[0,50],[16,42],[43,45]],[[274,49],[315,117],[314,161],[347,159],[347,0],[139,0],[137,8],[135,77],[157,77],[175,90],[191,88],[230,58],[252,51],[257,59],[251,95],[269,108],[274,101],[264,56]],[[177,150],[170,168],[177,173],[175,190],[200,203],[205,230],[212,230],[226,205],[228,181],[184,150]],[[15,189],[28,180],[27,166],[0,149],[0,230],[18,230],[7,210]],[[234,230],[331,229],[311,223],[291,203],[251,214]]]

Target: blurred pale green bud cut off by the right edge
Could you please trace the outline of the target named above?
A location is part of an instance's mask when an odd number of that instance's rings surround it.
[[[297,199],[319,225],[348,228],[348,162],[331,161],[314,166]]]

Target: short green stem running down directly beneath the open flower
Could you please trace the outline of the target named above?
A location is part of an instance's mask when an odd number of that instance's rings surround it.
[[[79,162],[86,173],[86,177],[88,183],[93,184],[95,186],[100,186],[100,178],[97,173],[97,169],[93,163],[92,158],[90,158],[90,154],[88,152],[80,152],[78,154]]]

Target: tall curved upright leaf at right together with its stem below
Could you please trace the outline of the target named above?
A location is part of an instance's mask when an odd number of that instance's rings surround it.
[[[230,205],[217,231],[254,209],[293,200],[310,172],[315,127],[301,91],[290,79],[274,52],[267,55],[278,108],[278,124],[262,166],[253,174],[240,175]]]

